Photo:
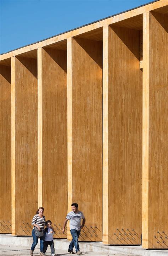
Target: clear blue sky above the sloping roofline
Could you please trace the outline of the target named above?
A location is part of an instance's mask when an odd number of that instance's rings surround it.
[[[0,53],[149,2],[151,0],[0,0]]]

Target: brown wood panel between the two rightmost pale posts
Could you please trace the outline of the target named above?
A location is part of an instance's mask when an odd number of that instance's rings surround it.
[[[142,72],[139,31],[109,33],[108,212],[110,244],[141,244]]]

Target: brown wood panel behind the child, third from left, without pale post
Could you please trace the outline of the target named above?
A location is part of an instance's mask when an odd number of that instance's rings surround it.
[[[66,238],[67,51],[42,49],[42,202],[45,216]]]

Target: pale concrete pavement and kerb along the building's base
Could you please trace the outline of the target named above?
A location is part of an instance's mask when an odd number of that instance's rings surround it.
[[[0,235],[0,256],[1,255],[29,255],[30,247],[33,243],[32,236],[12,236],[11,234]],[[70,255],[68,250],[69,242],[67,239],[55,239],[54,246],[57,255]],[[13,246],[13,247],[12,247]],[[39,256],[39,243],[35,250],[34,256]],[[108,256],[108,255],[127,255],[127,256],[168,256],[168,250],[145,250],[141,245],[136,246],[108,246],[103,245],[101,242],[80,242],[80,251],[84,252],[83,255],[87,256]],[[47,255],[51,255],[50,248]]]

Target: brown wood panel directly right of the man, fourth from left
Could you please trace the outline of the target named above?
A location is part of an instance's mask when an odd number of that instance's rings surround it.
[[[80,240],[102,241],[102,42],[72,39],[72,201]]]

